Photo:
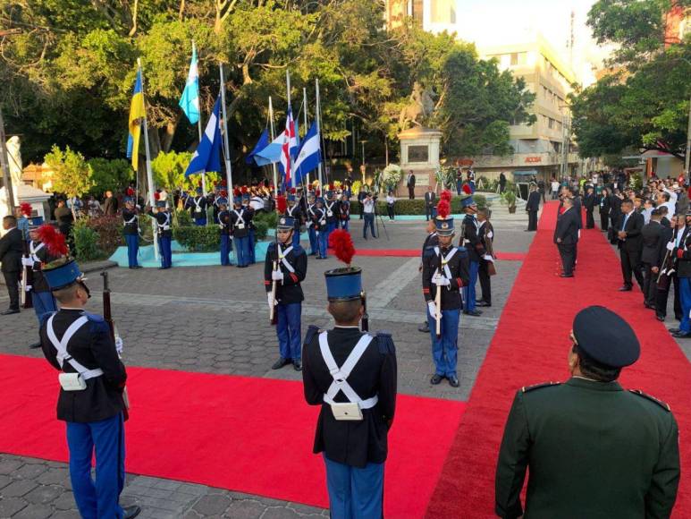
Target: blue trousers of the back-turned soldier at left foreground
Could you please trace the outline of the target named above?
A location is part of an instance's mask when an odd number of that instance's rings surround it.
[[[83,519],[122,518],[118,503],[125,484],[125,429],[122,413],[88,423],[67,422],[70,481]],[[91,459],[96,451],[96,481]]]

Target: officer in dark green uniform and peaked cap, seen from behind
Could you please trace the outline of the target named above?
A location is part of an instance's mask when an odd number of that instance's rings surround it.
[[[677,421],[669,405],[617,381],[640,354],[634,330],[602,306],[579,311],[572,326],[571,378],[516,393],[497,462],[496,514],[670,517],[679,483]]]

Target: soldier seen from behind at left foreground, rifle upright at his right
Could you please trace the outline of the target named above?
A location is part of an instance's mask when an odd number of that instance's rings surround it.
[[[84,311],[88,287],[74,259],[64,256],[63,235],[55,237],[58,241],[46,247],[60,259],[44,266],[43,274],[61,309],[46,316],[40,338],[47,361],[61,371],[57,419],[67,426],[74,500],[81,517],[131,519],[139,515],[139,506],[123,509],[118,502],[125,482],[127,414],[122,341],[116,345],[103,317]],[[94,456],[96,481],[91,477]]]

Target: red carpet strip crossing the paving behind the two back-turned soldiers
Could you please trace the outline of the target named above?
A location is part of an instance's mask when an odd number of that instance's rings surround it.
[[[328,505],[324,464],[311,454],[317,408],[305,404],[301,383],[129,372],[128,472]],[[66,461],[64,425],[55,420],[57,372],[42,359],[0,355],[0,394],[0,452]],[[464,406],[400,396],[386,465],[387,516],[425,513]]]

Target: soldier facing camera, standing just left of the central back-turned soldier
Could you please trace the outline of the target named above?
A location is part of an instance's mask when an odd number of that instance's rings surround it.
[[[281,358],[271,367],[280,370],[292,362],[296,371],[302,370],[300,352],[300,317],[302,294],[300,283],[308,272],[308,255],[292,242],[295,233],[293,217],[278,217],[276,240],[269,243],[264,261],[264,285],[269,309],[276,312],[276,335]]]

